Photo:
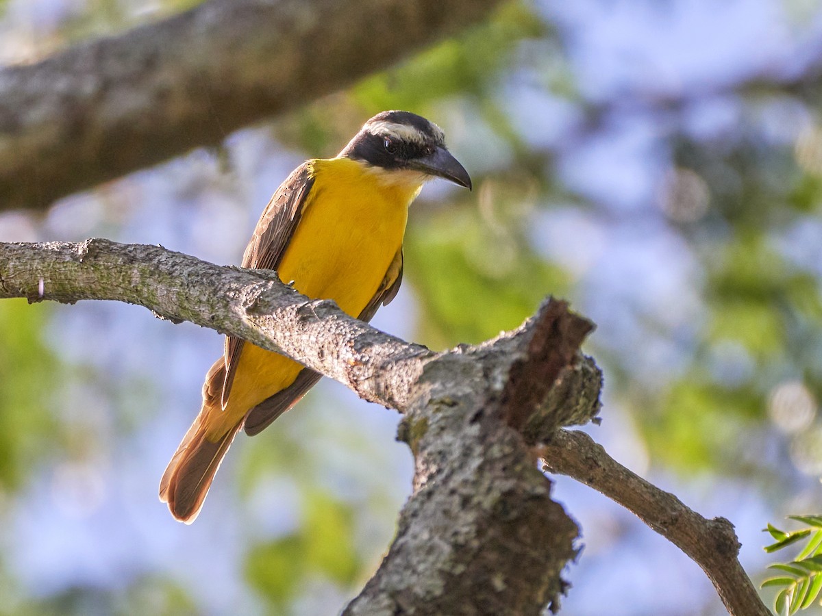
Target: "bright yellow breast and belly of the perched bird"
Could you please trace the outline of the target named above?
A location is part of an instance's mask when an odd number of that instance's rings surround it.
[[[279,278],[358,316],[402,246],[408,208],[421,185],[387,184],[349,159],[316,160],[312,167],[314,186],[280,260]],[[292,384],[300,370],[297,362],[246,342],[228,405],[209,437],[237,425],[252,407]]]

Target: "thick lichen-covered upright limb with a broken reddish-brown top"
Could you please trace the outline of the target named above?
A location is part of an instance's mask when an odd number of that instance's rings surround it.
[[[533,474],[510,402],[521,386],[533,412],[543,411],[550,384],[527,375],[551,379],[548,370],[575,361],[591,327],[548,301],[519,329],[428,363],[399,431],[416,461],[413,498],[389,554],[344,614],[559,609],[578,529]]]

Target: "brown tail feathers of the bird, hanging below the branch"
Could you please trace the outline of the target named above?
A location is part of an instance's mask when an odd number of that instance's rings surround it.
[[[169,503],[169,511],[180,522],[191,524],[200,513],[211,481],[241,425],[242,421],[215,443],[205,438],[200,416],[188,429],[159,484],[159,499]]]

